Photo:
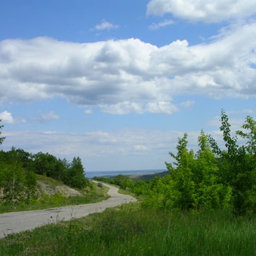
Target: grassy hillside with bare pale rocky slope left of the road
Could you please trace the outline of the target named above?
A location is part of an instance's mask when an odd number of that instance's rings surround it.
[[[97,183],[90,182],[89,186],[84,189],[74,189],[56,181],[53,178],[36,175],[37,184],[34,196],[30,200],[5,203],[1,200],[0,191],[0,214],[10,211],[30,211],[45,208],[55,208],[62,206],[75,206],[87,203],[97,203],[107,200],[108,187],[99,187]]]

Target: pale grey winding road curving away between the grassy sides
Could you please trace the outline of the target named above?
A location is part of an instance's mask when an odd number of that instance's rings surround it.
[[[107,184],[105,184],[105,186],[109,188],[108,195],[111,197],[99,203],[0,214],[0,238],[4,238],[4,236],[10,233],[33,230],[35,227],[56,223],[62,220],[69,221],[72,218],[86,217],[92,213],[102,212],[106,208],[136,201],[134,197],[119,194],[116,187]]]

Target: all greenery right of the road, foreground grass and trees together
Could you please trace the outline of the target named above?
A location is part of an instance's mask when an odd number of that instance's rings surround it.
[[[7,236],[0,255],[255,255],[256,121],[220,121],[220,145],[203,131],[196,152],[178,138],[164,177],[95,177],[138,203]]]

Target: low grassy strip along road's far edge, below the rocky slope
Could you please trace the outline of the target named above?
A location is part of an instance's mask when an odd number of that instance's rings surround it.
[[[49,178],[47,178],[49,181]],[[59,182],[53,180],[53,182]],[[59,185],[59,183],[55,184]],[[86,195],[64,197],[60,193],[54,196],[43,195],[40,200],[31,200],[31,203],[20,203],[13,207],[11,204],[6,205],[0,203],[0,214],[11,212],[11,211],[32,211],[45,208],[55,208],[60,206],[73,206],[85,203],[97,203],[102,200],[109,198],[107,195],[107,187],[98,187],[97,184],[93,184],[94,188],[91,189]]]

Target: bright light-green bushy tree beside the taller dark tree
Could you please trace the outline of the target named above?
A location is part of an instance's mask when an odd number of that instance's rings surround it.
[[[217,159],[207,135],[201,131],[196,154],[188,150],[187,144],[185,133],[178,138],[177,153],[170,153],[175,162],[166,163],[170,174],[152,181],[151,198],[143,204],[181,210],[230,206],[230,187],[219,183]]]

